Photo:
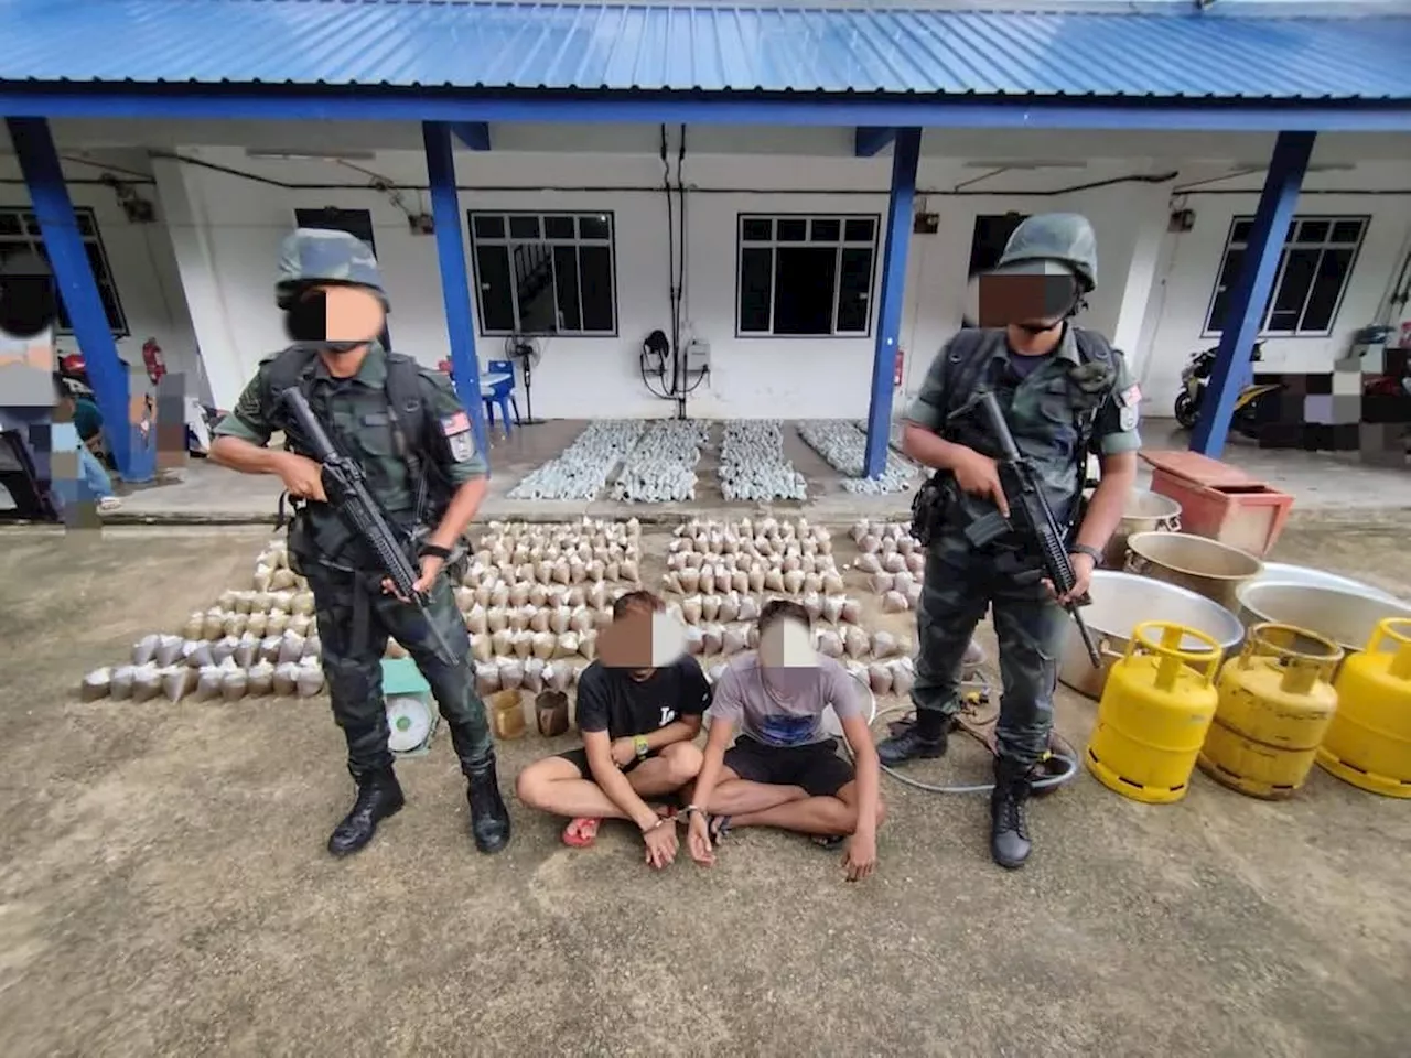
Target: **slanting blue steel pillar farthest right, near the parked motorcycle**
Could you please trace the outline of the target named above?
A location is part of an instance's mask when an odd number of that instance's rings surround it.
[[[1254,210],[1254,224],[1245,250],[1245,264],[1230,289],[1229,309],[1221,330],[1215,367],[1201,398],[1201,418],[1191,432],[1191,451],[1219,458],[1225,451],[1235,398],[1249,368],[1250,351],[1264,324],[1264,310],[1274,289],[1278,258],[1288,237],[1288,223],[1298,206],[1298,189],[1314,152],[1315,133],[1280,133],[1264,176],[1264,190]]]

